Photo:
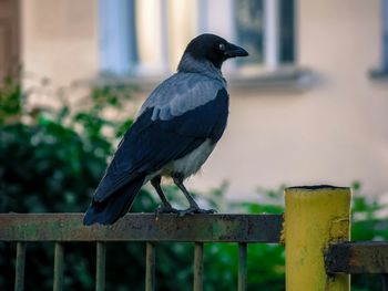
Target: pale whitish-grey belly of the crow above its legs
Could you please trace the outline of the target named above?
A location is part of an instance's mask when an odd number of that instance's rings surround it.
[[[187,178],[200,170],[201,166],[206,162],[212,154],[215,144],[211,139],[206,139],[201,146],[195,148],[184,157],[176,159],[169,165],[169,170],[172,173],[180,173]]]

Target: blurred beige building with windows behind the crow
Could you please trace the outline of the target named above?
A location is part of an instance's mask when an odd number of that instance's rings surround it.
[[[127,80],[144,98],[202,32],[251,56],[224,67],[228,128],[192,188],[388,190],[387,0],[0,0],[0,67],[55,85]]]

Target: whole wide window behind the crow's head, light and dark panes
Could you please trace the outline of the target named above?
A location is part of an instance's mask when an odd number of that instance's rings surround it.
[[[213,32],[249,51],[228,70],[295,60],[294,0],[100,0],[100,67],[115,75],[175,70],[186,43]]]

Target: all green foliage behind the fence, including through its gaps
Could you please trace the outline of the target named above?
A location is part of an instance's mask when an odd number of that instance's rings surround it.
[[[0,211],[84,211],[98,185],[116,137],[133,123],[119,118],[132,87],[103,86],[70,105],[61,94],[59,108],[28,111],[20,85],[8,80],[0,89]],[[114,118],[112,118],[114,116]],[[113,121],[115,119],[115,121]],[[225,212],[282,214],[283,189],[258,189],[257,200],[227,201],[227,183],[207,195],[196,195]],[[174,205],[185,207],[174,186],[165,190]],[[388,239],[385,205],[360,194],[354,185],[353,239]],[[132,211],[153,211],[157,206],[147,188]],[[95,249],[91,243],[65,243],[64,290],[92,290]],[[14,243],[0,243],[0,290],[13,289]],[[193,243],[157,243],[157,290],[192,290]],[[236,290],[236,243],[206,243],[205,290]],[[108,290],[144,289],[144,243],[108,245]],[[53,243],[29,243],[25,290],[52,289]],[[284,290],[284,248],[248,245],[248,289]],[[39,282],[39,283],[38,283]],[[380,290],[379,278],[356,276],[353,290]]]

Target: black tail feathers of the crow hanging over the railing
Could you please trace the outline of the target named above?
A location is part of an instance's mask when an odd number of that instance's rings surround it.
[[[83,217],[83,225],[90,226],[96,222],[112,225],[118,221],[130,210],[143,183],[144,178],[131,180],[105,200],[95,201],[93,199]]]

